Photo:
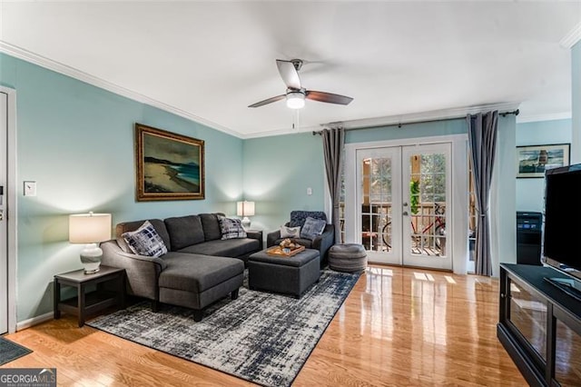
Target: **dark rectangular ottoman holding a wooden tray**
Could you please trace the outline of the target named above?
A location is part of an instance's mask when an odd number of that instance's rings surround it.
[[[251,290],[285,293],[300,298],[319,281],[319,250],[305,249],[291,257],[271,256],[263,250],[248,258],[248,286]]]

